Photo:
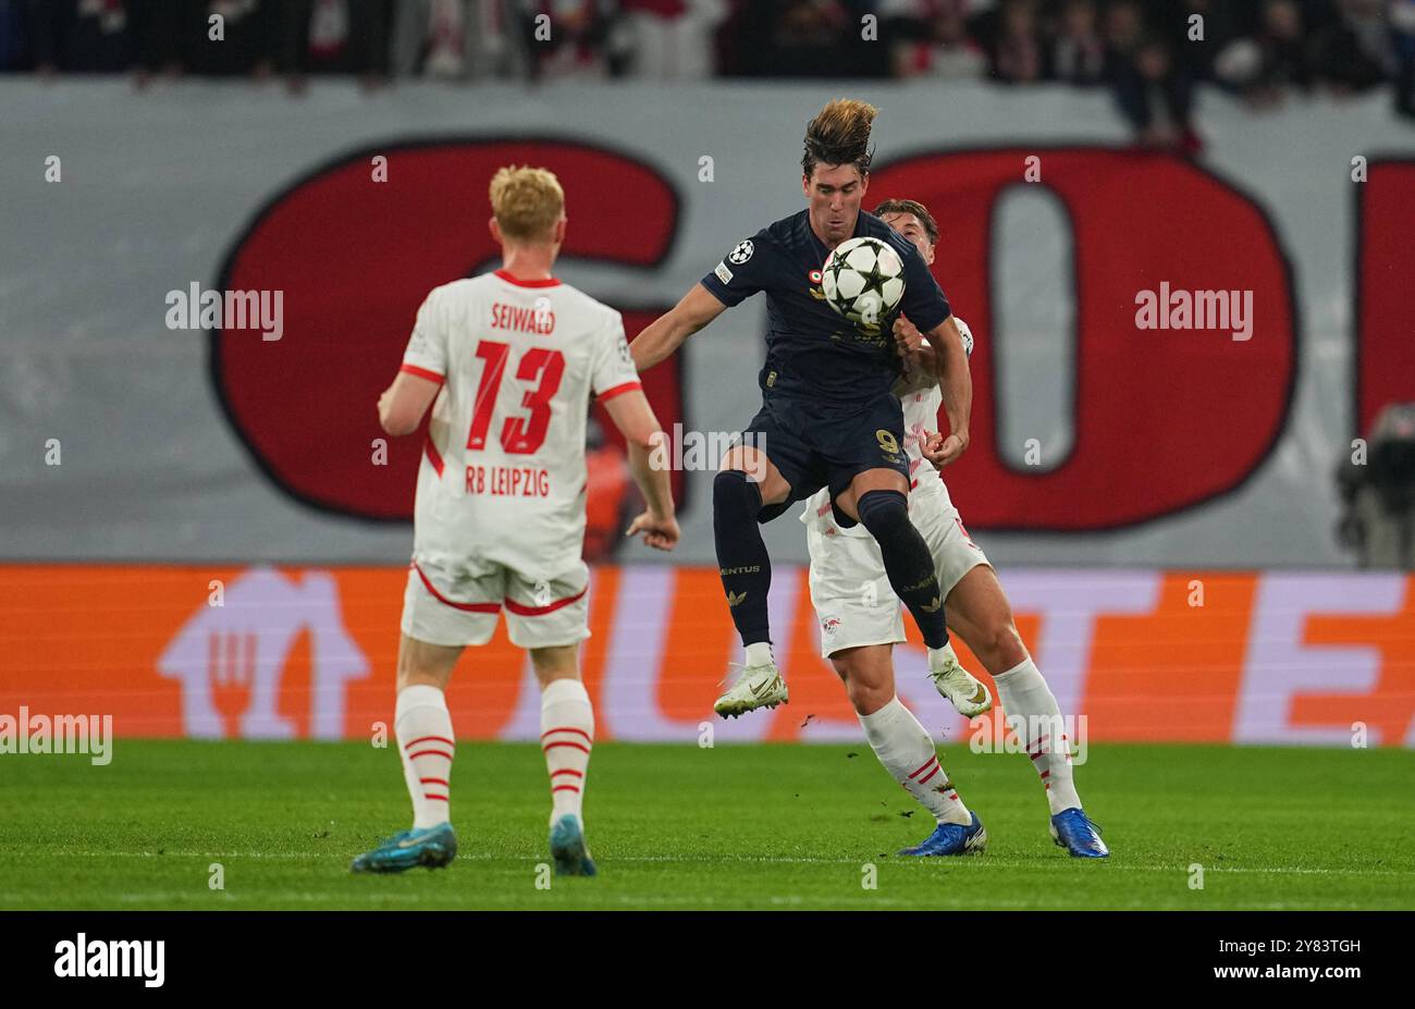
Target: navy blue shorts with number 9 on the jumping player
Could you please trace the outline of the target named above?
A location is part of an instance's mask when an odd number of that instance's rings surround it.
[[[782,504],[761,509],[761,522],[770,522],[822,487],[831,488],[833,502],[866,470],[894,470],[908,483],[904,408],[889,392],[855,409],[771,396],[743,430],[743,443],[766,451],[791,485]]]

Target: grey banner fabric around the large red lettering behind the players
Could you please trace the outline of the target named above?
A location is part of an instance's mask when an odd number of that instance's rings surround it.
[[[930,146],[1126,140],[1107,95],[1065,88],[429,83],[365,95],[355,83],[318,82],[291,99],[246,83],[160,83],[137,93],[119,79],[0,81],[0,559],[406,560],[410,526],[314,511],[260,473],[212,389],[207,337],[167,327],[167,293],[214,287],[262,205],[350,150],[526,134],[608,146],[672,181],[682,219],[659,269],[566,262],[560,270],[606,300],[672,303],[734,242],[801,207],[802,125],[845,91],[882,108],[880,161]],[[998,563],[1351,563],[1333,535],[1332,483],[1353,436],[1350,161],[1415,156],[1415,134],[1392,119],[1384,95],[1254,116],[1206,92],[1201,109],[1206,163],[1262,202],[1293,266],[1299,374],[1276,450],[1235,494],[1129,529],[975,528]],[[45,181],[51,156],[62,167],[58,183]],[[702,156],[713,157],[712,181],[700,180]],[[624,198],[623,212],[634,212],[633,194]],[[487,217],[480,207],[450,212],[477,229]],[[574,214],[570,207],[572,226]],[[1000,233],[1023,236],[1029,222],[1050,226],[1054,211],[1023,200],[1003,217]],[[1046,324],[1039,299],[1054,299],[1056,284],[1033,292],[1020,279],[1064,273],[1063,246],[998,243],[1007,325]],[[955,309],[968,317],[968,306]],[[754,413],[763,323],[754,299],[691,341],[692,427],[736,430]],[[1003,427],[1051,425],[1064,443],[1053,357],[1006,358],[1012,392],[999,413]],[[59,466],[47,464],[52,439]],[[689,483],[692,507],[672,560],[712,563],[710,483],[700,474]],[[955,487],[954,498],[966,521],[968,488]],[[805,560],[794,518],[768,526],[767,542],[782,560]]]

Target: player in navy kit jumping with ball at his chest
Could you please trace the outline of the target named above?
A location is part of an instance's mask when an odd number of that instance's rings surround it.
[[[829,488],[842,525],[859,522],[879,542],[890,586],[928,645],[930,669],[951,672],[957,667],[932,558],[908,521],[903,410],[890,392],[900,374],[890,335],[893,317],[879,320],[867,333],[831,309],[821,292],[826,256],[849,238],[877,238],[900,255],[906,279],[900,310],[940,362],[949,434],[938,454],[948,460],[962,453],[972,384],[948,299],[914,245],[860,211],[869,187],[874,115],[865,102],[829,102],[807,126],[801,168],[808,208],[739,242],[630,347],[634,364],[644,371],[726,309],[757,292],[767,294],[761,410],[743,432],[743,444],[726,454],[713,483],[719,572],[747,652],[741,675],[713,705],[723,717],[787,700],[771,658],[771,560],[757,524],[777,518],[821,487]],[[990,698],[981,684],[978,689],[981,710],[986,710]]]

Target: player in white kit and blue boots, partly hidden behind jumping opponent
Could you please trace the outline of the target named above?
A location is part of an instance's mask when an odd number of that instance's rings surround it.
[[[890,200],[874,211],[910,239],[927,263],[934,262],[938,225],[913,200]],[[972,354],[972,331],[962,320],[964,350]],[[1046,785],[1051,835],[1077,858],[1105,858],[1109,852],[1098,828],[1087,818],[1071,774],[1070,744],[1056,698],[1022,644],[1012,609],[998,576],[964,528],[938,473],[955,453],[942,450],[938,425],[942,398],[935,365],[908,320],[896,324],[896,338],[908,369],[894,392],[904,406],[904,447],[910,459],[908,517],[928,542],[944,592],[948,630],[962,637],[998,684],[1009,723],[1023,734],[1027,756]],[[986,845],[978,815],[958,798],[938,763],[934,740],[894,693],[891,651],[904,641],[900,603],[890,590],[879,546],[859,526],[842,529],[831,502],[818,494],[801,515],[811,552],[811,603],[821,621],[821,651],[845,681],[865,736],[884,768],[924,805],[938,824],[932,835],[901,855],[964,855]],[[957,657],[949,665],[957,665]],[[961,667],[958,667],[961,669]],[[934,678],[940,693],[964,715],[985,705],[986,688],[975,702],[957,684]],[[966,679],[972,676],[964,674]],[[972,681],[976,684],[976,681]]]

